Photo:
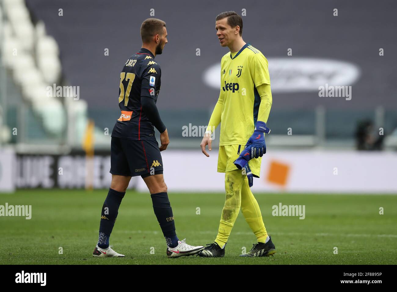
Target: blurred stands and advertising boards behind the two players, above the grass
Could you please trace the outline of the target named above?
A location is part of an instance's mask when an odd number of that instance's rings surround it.
[[[154,13],[169,34],[156,58],[163,72],[157,104],[171,141],[164,152],[166,182],[170,190],[222,191],[216,153],[206,159],[201,137],[185,137],[183,129],[200,129],[209,120],[227,52],[214,19],[235,10],[245,11],[243,38],[268,58],[272,80],[272,133],[254,188],[396,193],[396,6],[1,0],[0,190],[109,186],[119,71],[141,46],[142,21]],[[326,84],[351,86],[351,100],[319,97]],[[57,86],[71,91],[57,96]],[[93,159],[86,160],[92,149]],[[178,172],[181,165],[187,171]],[[139,179],[131,187],[146,188]]]

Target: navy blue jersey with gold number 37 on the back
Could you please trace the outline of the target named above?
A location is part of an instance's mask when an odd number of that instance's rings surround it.
[[[152,52],[141,48],[129,57],[120,73],[120,118],[116,121],[112,137],[131,140],[156,139],[154,127],[142,110],[141,96],[157,102],[161,85],[160,65],[154,62]]]

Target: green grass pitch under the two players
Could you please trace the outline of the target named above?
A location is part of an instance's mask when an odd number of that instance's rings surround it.
[[[148,193],[128,191],[110,244],[125,258],[93,258],[106,190],[19,190],[0,194],[0,205],[32,205],[32,219],[0,217],[0,264],[395,264],[396,195],[256,194],[277,253],[241,258],[255,237],[239,214],[220,259],[168,259]],[[170,193],[177,234],[187,243],[214,240],[222,193]],[[272,206],[305,205],[306,218],[274,217]],[[196,208],[200,207],[200,215]],[[379,208],[384,207],[384,215]],[[63,254],[58,248],[63,248]],[[338,248],[338,254],[333,248]],[[154,249],[153,249],[154,248]],[[154,254],[150,251],[154,250]]]

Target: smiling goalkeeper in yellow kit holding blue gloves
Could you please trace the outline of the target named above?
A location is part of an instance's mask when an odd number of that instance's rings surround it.
[[[220,45],[229,47],[230,52],[222,57],[220,95],[200,146],[202,153],[209,157],[205,147],[208,145],[211,151],[210,136],[221,123],[218,172],[225,172],[226,198],[218,236],[198,255],[225,255],[227,238],[240,207],[258,240],[251,251],[240,256],[273,255],[276,248],[250,189],[252,176],[259,177],[262,155],[266,153],[264,133],[270,132],[266,127],[272,106],[268,61],[258,49],[243,41],[243,20],[236,12],[219,14],[215,28]]]

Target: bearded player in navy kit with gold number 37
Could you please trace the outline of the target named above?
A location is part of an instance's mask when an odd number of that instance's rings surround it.
[[[176,236],[163,177],[160,151],[166,150],[170,141],[156,107],[161,68],[154,58],[168,43],[166,23],[160,19],[146,19],[141,26],[141,37],[141,50],[128,58],[120,73],[118,102],[121,114],[112,131],[112,183],[102,207],[94,257],[124,257],[109,246],[109,237],[131,176],[141,176],[149,189],[154,213],[166,239],[168,257],[192,255],[204,248],[186,244]],[[160,132],[160,148],[154,127]]]

